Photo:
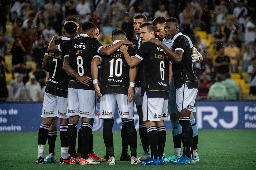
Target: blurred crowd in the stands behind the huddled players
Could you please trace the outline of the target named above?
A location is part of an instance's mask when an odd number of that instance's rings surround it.
[[[108,45],[109,28],[124,30],[128,40],[135,36],[133,17],[138,13],[145,14],[148,22],[158,16],[178,19],[180,32],[191,38],[204,58],[194,65],[200,80],[198,99],[214,99],[213,85],[225,86],[230,77],[238,89],[226,85],[227,96],[220,100],[256,95],[254,0],[0,0],[0,4],[0,101],[42,100],[46,71],[41,64],[52,36],[62,35],[65,18],[93,22],[101,42]]]

